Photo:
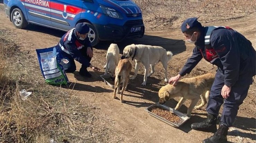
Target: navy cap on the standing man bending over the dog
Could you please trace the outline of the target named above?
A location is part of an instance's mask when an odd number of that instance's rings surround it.
[[[181,24],[181,31],[184,33],[195,27],[201,28],[202,24],[197,21],[197,18],[188,18]]]

